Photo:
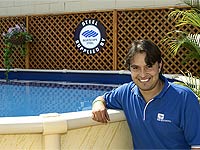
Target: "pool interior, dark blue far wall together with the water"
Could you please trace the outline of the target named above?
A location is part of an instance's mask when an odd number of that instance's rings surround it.
[[[36,116],[91,109],[99,95],[130,80],[126,71],[13,69],[0,72],[0,116]]]

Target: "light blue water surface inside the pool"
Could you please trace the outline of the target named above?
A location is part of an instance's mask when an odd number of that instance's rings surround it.
[[[36,116],[89,110],[96,96],[117,85],[0,81],[0,116]]]

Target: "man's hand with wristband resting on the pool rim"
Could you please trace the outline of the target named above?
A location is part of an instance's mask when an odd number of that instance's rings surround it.
[[[92,105],[92,119],[101,123],[110,121],[105,101],[102,97],[97,97]]]

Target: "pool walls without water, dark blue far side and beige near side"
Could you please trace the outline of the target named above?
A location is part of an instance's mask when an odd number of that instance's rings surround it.
[[[4,80],[5,70],[0,70]],[[128,71],[73,71],[12,69],[9,80],[40,80],[77,83],[122,84],[131,80]],[[111,121],[91,119],[91,110],[48,113],[39,116],[1,117],[0,149],[74,150],[132,149],[129,128],[122,111],[108,110]]]

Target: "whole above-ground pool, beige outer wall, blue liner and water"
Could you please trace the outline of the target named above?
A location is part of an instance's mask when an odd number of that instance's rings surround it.
[[[91,119],[96,96],[130,82],[129,71],[0,70],[0,149],[133,149],[123,111]],[[168,76],[170,77],[170,76]]]

